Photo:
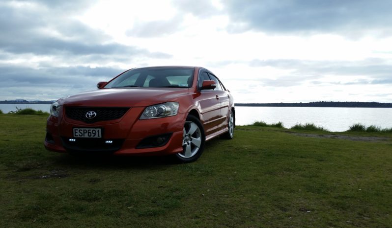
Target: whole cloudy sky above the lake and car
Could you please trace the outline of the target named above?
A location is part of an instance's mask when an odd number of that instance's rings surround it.
[[[210,69],[238,103],[392,102],[391,0],[1,0],[0,100]]]

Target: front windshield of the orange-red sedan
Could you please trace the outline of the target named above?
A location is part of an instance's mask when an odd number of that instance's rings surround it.
[[[124,72],[105,88],[190,88],[193,75],[194,68],[136,68]]]

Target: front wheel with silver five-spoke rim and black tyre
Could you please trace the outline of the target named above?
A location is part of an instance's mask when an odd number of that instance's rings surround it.
[[[196,161],[203,153],[205,134],[203,125],[194,115],[188,115],[184,124],[182,153],[175,154],[177,161],[186,163]]]

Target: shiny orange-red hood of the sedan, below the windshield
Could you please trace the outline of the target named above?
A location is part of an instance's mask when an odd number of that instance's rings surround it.
[[[85,91],[59,100],[64,106],[85,107],[146,107],[189,94],[183,88],[127,88]]]

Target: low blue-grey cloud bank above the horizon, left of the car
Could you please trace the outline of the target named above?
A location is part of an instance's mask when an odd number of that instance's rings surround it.
[[[2,78],[0,100],[16,97],[56,100],[72,93],[94,90],[99,81],[110,80],[124,70],[82,66],[34,69],[0,65]]]

